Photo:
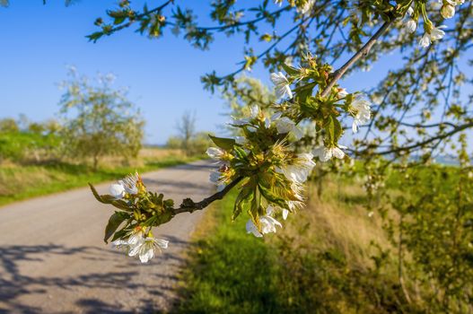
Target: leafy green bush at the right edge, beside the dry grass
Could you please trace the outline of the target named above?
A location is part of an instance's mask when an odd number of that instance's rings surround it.
[[[461,142],[460,167],[417,167],[400,173],[398,184],[408,193],[392,197],[398,218],[387,219],[391,240],[399,248],[399,279],[415,281],[406,293],[429,312],[473,310],[473,168],[464,136]],[[419,287],[420,296],[415,292]]]

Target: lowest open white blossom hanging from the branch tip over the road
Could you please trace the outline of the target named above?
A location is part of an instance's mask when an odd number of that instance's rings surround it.
[[[155,251],[168,249],[169,241],[145,235],[141,227],[136,227],[129,232],[127,240],[115,240],[111,243],[115,248],[127,251],[128,256],[138,257],[142,263],[147,263],[154,257]]]

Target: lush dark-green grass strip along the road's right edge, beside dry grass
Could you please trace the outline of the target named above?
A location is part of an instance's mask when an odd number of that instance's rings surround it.
[[[215,205],[207,224],[215,224],[196,241],[176,309],[189,313],[264,313],[277,309],[275,259],[263,240],[245,231],[244,219],[230,222],[235,194]],[[208,220],[211,219],[211,222]]]

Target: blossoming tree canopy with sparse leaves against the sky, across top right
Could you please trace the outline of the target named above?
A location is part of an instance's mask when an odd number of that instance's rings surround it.
[[[442,150],[442,143],[473,126],[467,87],[471,83],[468,56],[473,48],[471,8],[471,1],[463,0],[276,0],[252,4],[219,0],[208,6],[213,24],[203,26],[190,4],[162,1],[139,8],[124,0],[107,12],[106,19],[96,21],[100,30],[89,38],[96,41],[136,25],[137,31],[150,38],[171,31],[193,46],[207,49],[220,33],[241,36],[245,45],[240,67],[231,74],[214,71],[202,77],[206,88],[215,91],[223,86],[223,92],[238,91],[241,82],[236,75],[258,62],[276,72],[285,64],[300,64],[309,51],[331,65],[348,59],[352,51],[362,52],[362,58],[351,57],[346,66],[328,73],[335,82],[396,52],[399,62],[396,59],[397,65],[381,76],[369,93],[376,105],[376,119],[364,128],[363,139],[355,139],[353,153],[362,158],[373,153],[399,158],[411,152],[432,155]],[[442,30],[442,23],[448,31]],[[423,31],[422,36],[418,30]],[[448,36],[443,38],[445,34]]]

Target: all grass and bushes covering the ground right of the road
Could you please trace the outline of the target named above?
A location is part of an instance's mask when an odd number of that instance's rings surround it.
[[[264,240],[245,232],[246,221],[231,222],[236,191],[212,206],[180,274],[175,311],[471,312],[472,217],[457,206],[461,169],[391,170],[390,203],[381,193],[369,196],[357,168],[312,181],[307,207],[287,221],[276,217],[284,228]],[[414,208],[420,193],[412,182],[431,194],[450,188],[442,211],[433,195]],[[403,196],[407,185],[414,194]]]

